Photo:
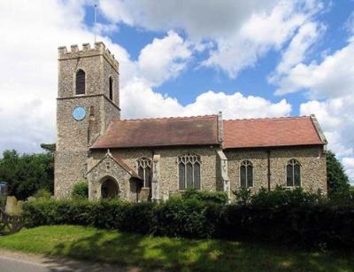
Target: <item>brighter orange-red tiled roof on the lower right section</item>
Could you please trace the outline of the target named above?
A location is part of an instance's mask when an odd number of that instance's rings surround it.
[[[325,144],[311,117],[224,120],[227,148]]]

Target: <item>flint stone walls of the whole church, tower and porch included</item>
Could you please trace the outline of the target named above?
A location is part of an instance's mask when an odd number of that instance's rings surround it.
[[[70,197],[73,185],[82,179],[89,181],[89,198],[101,198],[102,184],[110,179],[118,185],[119,198],[128,201],[165,200],[180,193],[177,158],[189,154],[200,156],[201,190],[226,191],[229,198],[233,198],[232,191],[240,188],[240,166],[243,159],[249,159],[253,165],[253,192],[262,187],[268,188],[269,178],[270,189],[276,185],[286,185],[286,165],[289,159],[297,159],[301,164],[301,187],[304,190],[327,192],[326,154],[323,146],[327,141],[314,116],[311,116],[312,124],[319,135],[320,143],[323,144],[316,145],[312,142],[312,145],[303,147],[223,150],[223,147],[227,148],[223,143],[230,130],[227,130],[226,125],[224,128],[224,121],[219,113],[217,127],[212,130],[216,131],[213,144],[178,147],[156,147],[152,144],[150,148],[90,149],[97,138],[103,136],[107,128],[112,126],[112,121],[119,120],[119,64],[104,47],[104,43],[95,43],[93,49],[85,43],[82,50],[73,45],[70,52],[61,47],[58,57],[58,142],[55,155],[57,198]],[[86,76],[84,95],[75,95],[75,77],[79,69],[83,70]],[[113,81],[112,100],[109,99],[110,77]],[[78,106],[86,111],[86,116],[80,121],[73,119],[73,110]],[[149,125],[149,128],[160,128],[158,126]],[[199,123],[199,126],[203,124]],[[180,128],[184,127],[180,125]],[[120,129],[117,134],[119,132]],[[152,133],[150,132],[150,135]],[[188,136],[189,133],[180,129],[176,135]],[[172,134],[169,130],[166,135],[171,138],[175,133]],[[235,134],[233,136],[237,138]],[[202,133],[200,138],[203,141],[205,133]],[[111,139],[108,142],[110,141]],[[151,159],[152,162],[151,188],[142,187],[142,180],[136,174],[137,159],[142,157]]]

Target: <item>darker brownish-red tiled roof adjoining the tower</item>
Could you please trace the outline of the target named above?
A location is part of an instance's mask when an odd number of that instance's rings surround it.
[[[92,149],[220,144],[218,115],[114,120]]]

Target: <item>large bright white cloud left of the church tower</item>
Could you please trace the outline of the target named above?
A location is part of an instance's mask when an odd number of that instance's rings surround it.
[[[57,47],[88,41],[81,1],[3,1],[0,9],[0,149],[37,151],[55,139]],[[38,8],[38,7],[41,8]]]

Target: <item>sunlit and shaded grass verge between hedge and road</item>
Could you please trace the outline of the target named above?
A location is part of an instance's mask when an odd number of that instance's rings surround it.
[[[149,237],[81,226],[22,229],[0,247],[141,268],[200,271],[352,271],[354,255],[219,240]]]

